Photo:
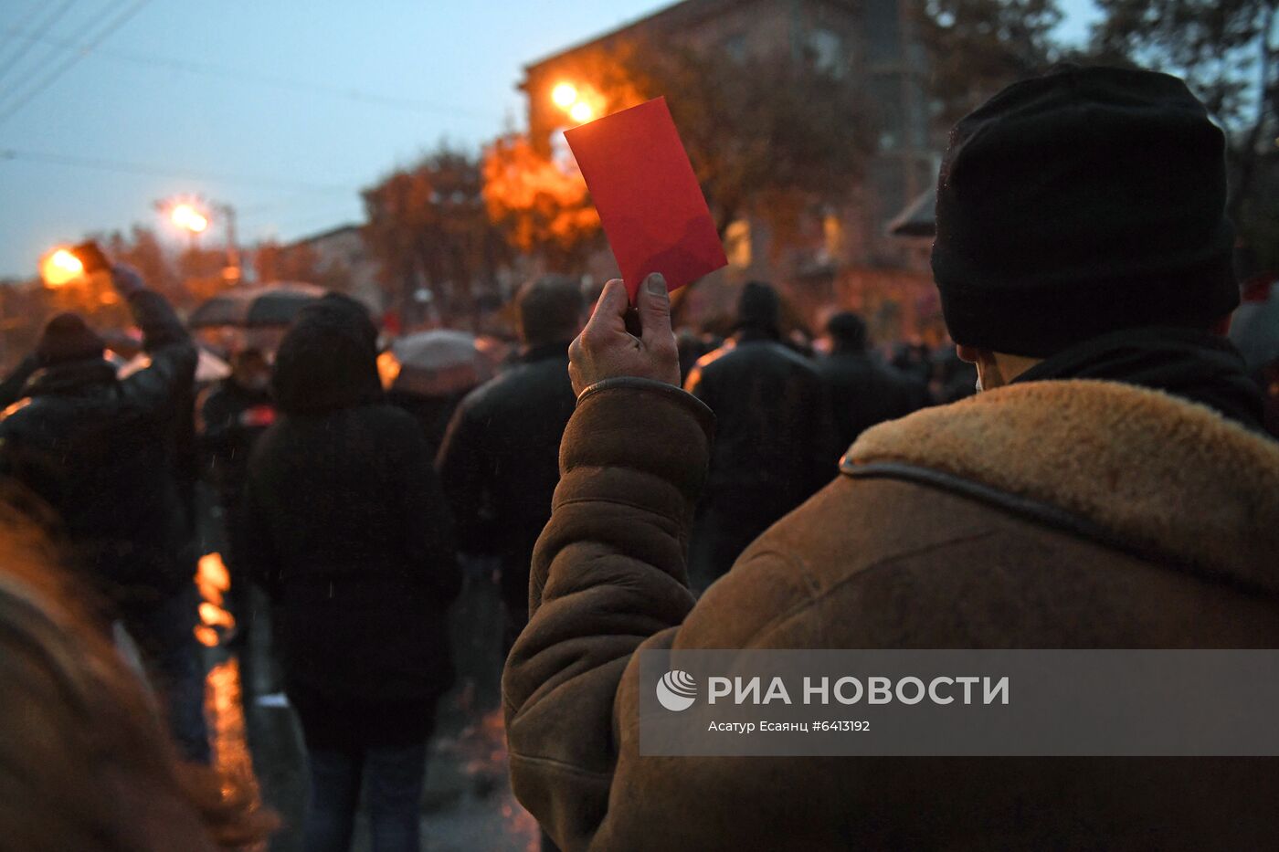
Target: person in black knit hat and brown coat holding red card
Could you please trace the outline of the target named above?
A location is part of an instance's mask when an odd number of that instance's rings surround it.
[[[678,388],[661,276],[638,290],[641,336],[605,285],[569,351],[577,408],[503,677],[512,787],[560,847],[1274,846],[1279,765],[1252,756],[642,742],[641,661],[665,650],[1274,647],[1279,443],[1220,336],[1238,303],[1223,154],[1186,86],[1140,70],[1058,68],[964,118],[932,262],[985,390],[867,429],[701,597],[686,542],[726,418]],[[789,399],[737,404],[799,420]],[[760,453],[737,449],[729,473],[752,473]]]

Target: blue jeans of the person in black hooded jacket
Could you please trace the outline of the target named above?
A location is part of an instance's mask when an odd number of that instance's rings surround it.
[[[426,779],[426,743],[362,751],[312,748],[311,809],[306,852],[348,852],[356,828],[359,788],[367,782],[368,832],[373,852],[418,852]]]

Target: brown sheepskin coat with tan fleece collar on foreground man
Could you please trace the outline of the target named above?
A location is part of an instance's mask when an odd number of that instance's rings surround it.
[[[684,542],[712,417],[587,389],[504,701],[561,848],[1244,849],[1273,759],[641,757],[640,647],[1276,647],[1279,445],[1096,380],[1013,384],[865,432],[843,476],[700,599]]]

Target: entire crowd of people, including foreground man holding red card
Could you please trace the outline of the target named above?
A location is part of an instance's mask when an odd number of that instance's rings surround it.
[[[362,791],[373,848],[420,848],[463,556],[500,569],[510,770],[545,848],[1273,840],[1269,761],[743,762],[636,741],[643,647],[1273,646],[1279,444],[1223,336],[1224,198],[1220,130],[1181,81],[1058,69],[961,122],[943,164],[934,274],[971,366],[884,357],[852,312],[803,351],[760,281],[707,344],[673,330],[657,274],[638,334],[620,281],[596,301],[546,276],[515,298],[518,357],[439,441],[385,393],[358,302],[316,299],[197,397],[192,336],[113,266],[146,366],[122,377],[63,313],[0,384],[0,764],[22,768],[0,829],[168,849],[274,828],[200,769],[198,458],[239,637],[252,586],[271,601],[307,849],[350,848]]]

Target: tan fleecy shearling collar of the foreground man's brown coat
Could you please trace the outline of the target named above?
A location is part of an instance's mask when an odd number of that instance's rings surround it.
[[[867,430],[842,467],[875,466],[975,482],[1133,550],[1279,591],[1279,444],[1161,391],[1013,384]]]

